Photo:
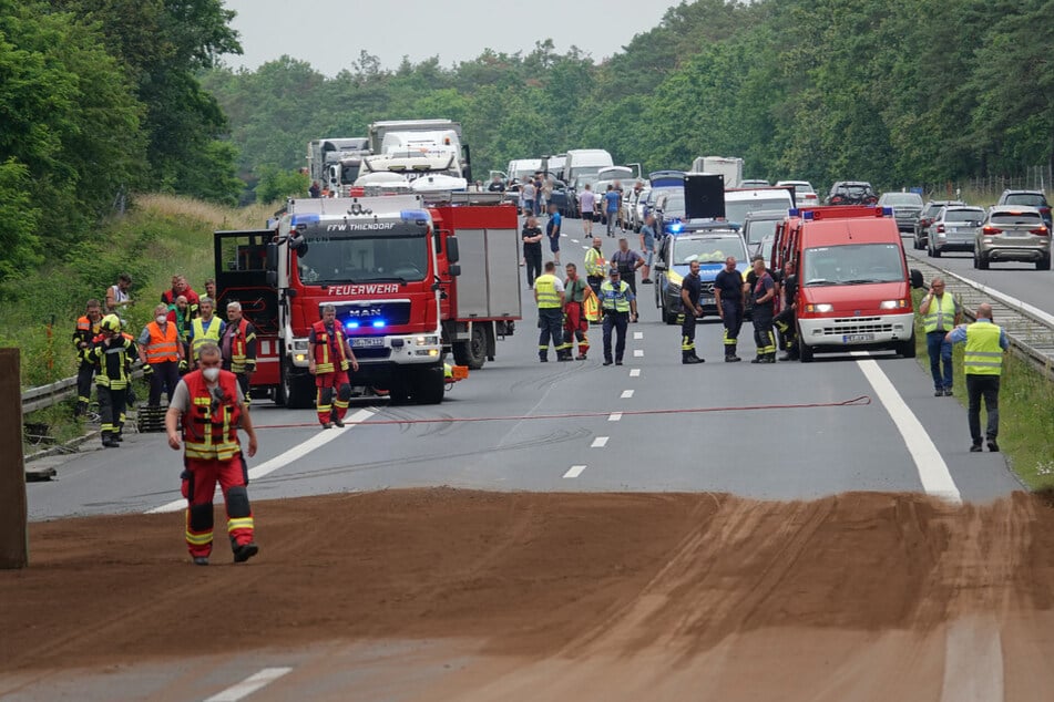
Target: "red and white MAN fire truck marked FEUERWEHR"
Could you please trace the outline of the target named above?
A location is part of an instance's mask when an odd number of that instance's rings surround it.
[[[480,369],[521,317],[515,208],[501,194],[293,199],[272,228],[216,231],[221,309],[256,327],[255,395],[315,399],[308,332],[334,304],[359,361],[352,385],[442,401],[443,364]]]

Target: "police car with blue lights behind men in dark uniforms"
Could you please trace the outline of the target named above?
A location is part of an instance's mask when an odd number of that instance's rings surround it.
[[[703,295],[699,304],[704,314],[717,314],[714,299],[714,279],[725,267],[725,259],[736,257],[736,268],[746,276],[749,269],[747,246],[738,225],[727,221],[692,223],[690,228],[667,228],[655,264],[655,307],[662,310],[663,321],[677,323],[682,312],[681,283],[688,275],[692,261],[699,261]]]

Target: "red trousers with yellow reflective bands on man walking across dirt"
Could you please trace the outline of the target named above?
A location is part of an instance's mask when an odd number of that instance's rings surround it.
[[[253,510],[249,507],[248,471],[237,454],[228,461],[186,458],[183,472],[183,496],[186,497],[186,546],[192,557],[205,556],[213,549],[213,494],[216,483],[223,491],[227,512],[227,535],[231,547],[253,540]]]

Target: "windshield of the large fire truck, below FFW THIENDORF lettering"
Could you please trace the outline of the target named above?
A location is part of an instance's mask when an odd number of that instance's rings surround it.
[[[428,229],[395,223],[381,233],[327,231],[316,225],[305,233],[307,252],[297,258],[300,280],[311,285],[423,280],[428,273]],[[332,225],[340,226],[340,225]]]

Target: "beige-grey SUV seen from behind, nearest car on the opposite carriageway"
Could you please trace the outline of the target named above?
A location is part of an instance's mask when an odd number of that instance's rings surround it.
[[[990,262],[1035,262],[1051,269],[1051,228],[1035,207],[993,205],[978,231],[973,267],[988,270]]]

